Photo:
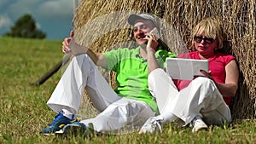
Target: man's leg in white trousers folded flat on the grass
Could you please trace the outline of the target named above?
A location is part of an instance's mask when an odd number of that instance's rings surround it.
[[[96,118],[85,119],[81,123],[92,124],[97,132],[123,134],[140,129],[154,115],[155,112],[145,102],[122,98],[109,105]],[[125,131],[120,131],[122,128]]]

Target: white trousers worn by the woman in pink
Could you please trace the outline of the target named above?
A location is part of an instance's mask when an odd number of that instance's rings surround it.
[[[207,124],[223,124],[231,121],[230,108],[209,78],[195,78],[188,87],[177,90],[166,72],[156,69],[148,75],[148,87],[156,97],[160,115],[172,113],[183,120],[184,125],[199,115]],[[165,120],[166,121],[166,120]]]

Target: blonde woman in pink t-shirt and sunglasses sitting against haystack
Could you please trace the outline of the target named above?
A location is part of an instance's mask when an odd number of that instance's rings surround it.
[[[223,30],[218,20],[207,18],[195,26],[191,33],[195,51],[179,58],[208,60],[209,72],[201,70],[204,77],[192,81],[172,80],[148,57],[148,89],[155,96],[160,115],[148,118],[140,133],[152,133],[161,124],[178,122],[189,125],[193,132],[206,130],[208,125],[231,122],[230,99],[236,95],[239,71],[236,58],[221,52]],[[150,47],[147,47],[150,50]],[[154,49],[153,49],[154,51]]]

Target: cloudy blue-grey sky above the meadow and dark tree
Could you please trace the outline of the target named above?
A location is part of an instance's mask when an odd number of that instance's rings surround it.
[[[62,40],[73,30],[73,0],[0,0],[0,36],[24,14],[32,15],[49,40]]]

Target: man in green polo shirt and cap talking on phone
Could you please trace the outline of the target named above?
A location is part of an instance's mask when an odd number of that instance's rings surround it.
[[[140,129],[149,117],[158,113],[156,101],[148,90],[148,67],[154,63],[147,57],[154,55],[158,65],[164,67],[166,57],[175,55],[163,49],[157,40],[159,36],[151,32],[154,27],[159,29],[152,15],[131,14],[128,23],[133,26],[133,35],[139,46],[103,54],[86,49],[86,54],[74,56],[47,102],[58,114],[40,134],[61,134],[73,126],[117,134],[123,128]],[[65,38],[62,43],[62,51],[68,53],[77,47],[82,46],[74,43],[71,32],[71,37]],[[150,50],[147,51],[148,48]],[[96,66],[117,73],[116,89],[108,85]],[[77,121],[75,114],[79,111],[84,89],[100,113],[96,118]]]

